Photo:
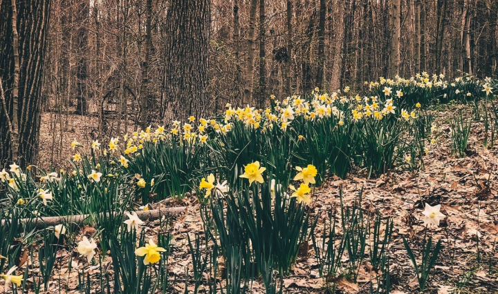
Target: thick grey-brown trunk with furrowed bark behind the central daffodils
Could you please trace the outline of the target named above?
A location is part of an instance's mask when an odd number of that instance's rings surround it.
[[[165,119],[207,115],[210,0],[172,0],[166,17]]]

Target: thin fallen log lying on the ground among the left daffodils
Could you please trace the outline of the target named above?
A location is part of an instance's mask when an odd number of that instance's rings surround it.
[[[169,215],[176,216],[185,212],[187,208],[185,206],[181,207],[172,207],[172,208],[158,208],[152,210],[139,210],[136,211],[138,217],[142,220],[154,220],[158,219],[160,216]],[[127,219],[126,213],[133,212],[125,212],[123,214],[123,218]],[[48,226],[57,226],[58,224],[71,223],[76,224],[78,226],[82,226],[84,224],[84,220],[87,219],[90,215],[63,215],[59,217],[34,217],[33,219],[20,219],[21,224],[30,224],[31,226],[35,226],[36,228],[46,228]],[[1,225],[5,223],[5,220],[1,221]]]

